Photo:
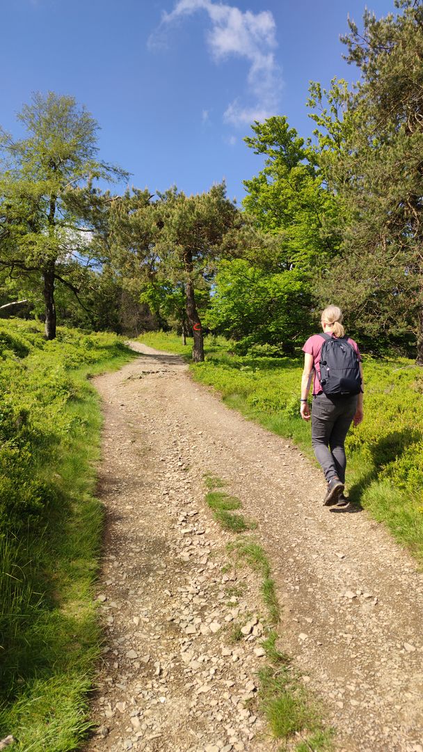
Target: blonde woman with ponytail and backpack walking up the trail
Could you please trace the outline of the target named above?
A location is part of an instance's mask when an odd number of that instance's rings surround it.
[[[360,350],[353,339],[345,337],[342,320],[340,308],[329,305],[322,311],[323,334],[309,337],[303,347],[301,417],[304,420],[311,417],[313,450],[328,483],[323,500],[325,506],[348,503],[343,495],[346,468],[344,444],[351,423],[358,426],[363,420]],[[322,348],[325,359],[321,357]],[[308,394],[312,381],[313,409],[310,415]]]

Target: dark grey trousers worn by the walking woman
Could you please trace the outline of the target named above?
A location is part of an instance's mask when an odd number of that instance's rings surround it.
[[[357,410],[358,396],[331,400],[325,394],[313,399],[311,443],[327,481],[335,475],[345,483],[345,439]]]

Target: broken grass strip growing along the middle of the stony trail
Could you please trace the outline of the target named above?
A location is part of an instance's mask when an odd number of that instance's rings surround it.
[[[240,499],[222,492],[225,481],[221,478],[206,475],[204,483],[208,489],[206,502],[213,509],[215,518],[224,529],[239,532],[236,528],[228,527],[219,516],[216,517],[216,511],[223,509],[228,515],[234,516],[233,510],[242,506]],[[293,669],[288,656],[276,647],[278,635],[275,628],[279,621],[279,603],[264,548],[251,535],[241,535],[228,544],[228,555],[237,564],[246,563],[261,579],[261,596],[267,609],[267,623],[264,627],[266,638],[262,642],[267,663],[258,672],[258,703],[267,718],[273,738],[282,743],[281,750],[330,752],[333,731],[324,728],[316,702],[304,689],[301,677]],[[233,644],[243,639],[241,630],[240,623],[232,625],[230,641]]]

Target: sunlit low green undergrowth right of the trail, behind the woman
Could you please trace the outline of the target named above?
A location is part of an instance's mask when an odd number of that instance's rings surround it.
[[[179,345],[176,335],[160,332],[140,339],[172,352]],[[314,462],[310,425],[299,417],[301,353],[234,356],[223,338],[205,338],[204,350],[206,361],[190,365],[193,378],[249,420],[292,439]],[[191,344],[186,356],[190,351]],[[364,381],[364,421],[346,441],[349,498],[423,561],[423,369],[364,354]]]

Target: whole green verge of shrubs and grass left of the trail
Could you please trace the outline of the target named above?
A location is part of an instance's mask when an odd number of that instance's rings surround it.
[[[114,335],[0,327],[0,738],[74,750],[89,726],[101,635],[92,584],[101,411],[87,377],[128,362]]]

